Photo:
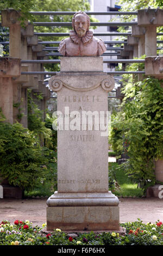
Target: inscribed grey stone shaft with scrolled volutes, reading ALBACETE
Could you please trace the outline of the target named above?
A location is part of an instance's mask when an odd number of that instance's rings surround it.
[[[81,119],[76,130],[64,127],[64,131],[58,131],[58,192],[107,192],[108,137],[101,136],[99,125],[94,124],[91,130],[86,123],[82,130],[82,114],[106,114],[107,92],[114,87],[113,78],[101,72],[64,73],[54,76],[49,83],[58,93],[58,111],[65,113],[66,106],[68,115],[78,111]],[[108,87],[104,87],[105,83]]]

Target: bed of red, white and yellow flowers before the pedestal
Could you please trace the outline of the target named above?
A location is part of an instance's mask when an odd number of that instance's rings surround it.
[[[29,221],[16,220],[11,224],[6,220],[0,224],[0,245],[163,245],[163,224],[159,220],[145,224],[138,219],[121,226],[126,228],[126,235],[90,231],[70,236],[59,228],[43,234],[46,223],[33,227]]]

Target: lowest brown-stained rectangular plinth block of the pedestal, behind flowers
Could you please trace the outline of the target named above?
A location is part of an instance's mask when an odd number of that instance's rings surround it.
[[[47,230],[120,230],[118,206],[47,208]]]

